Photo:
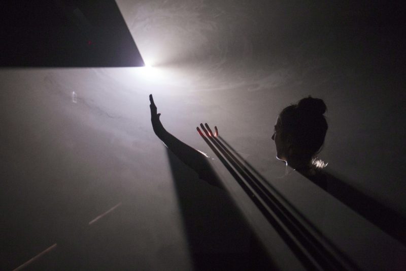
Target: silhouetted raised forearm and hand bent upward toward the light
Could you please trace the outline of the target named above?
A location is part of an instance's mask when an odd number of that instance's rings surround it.
[[[207,157],[199,153],[196,149],[183,143],[178,138],[168,133],[159,119],[160,113],[157,113],[157,108],[154,103],[152,94],[149,96],[151,102],[151,123],[155,134],[160,140],[174,153],[183,163],[193,169],[199,175],[200,179],[205,180],[213,186],[222,188],[221,182],[217,174],[210,166]]]

